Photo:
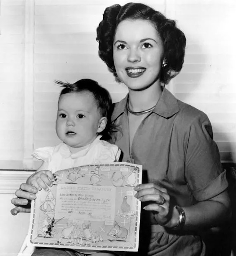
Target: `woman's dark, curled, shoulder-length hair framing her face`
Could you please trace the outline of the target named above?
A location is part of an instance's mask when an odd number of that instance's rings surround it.
[[[121,82],[114,66],[113,42],[118,24],[126,19],[147,20],[156,27],[164,47],[165,65],[160,70],[160,82],[164,85],[168,84],[183,66],[186,38],[176,27],[174,20],[167,19],[162,13],[145,4],[128,3],[124,6],[114,4],[105,9],[103,20],[97,27],[98,55],[107,64],[117,82]]]

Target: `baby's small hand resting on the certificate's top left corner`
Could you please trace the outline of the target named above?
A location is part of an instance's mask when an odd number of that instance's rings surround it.
[[[36,187],[37,190],[43,188],[45,191],[48,191],[49,187],[52,187],[52,182],[54,180],[55,178],[51,171],[41,170],[28,177],[26,183]]]

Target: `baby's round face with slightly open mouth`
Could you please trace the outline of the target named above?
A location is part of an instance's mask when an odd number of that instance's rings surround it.
[[[101,115],[90,92],[62,94],[58,101],[56,133],[72,153],[88,145],[100,132]]]

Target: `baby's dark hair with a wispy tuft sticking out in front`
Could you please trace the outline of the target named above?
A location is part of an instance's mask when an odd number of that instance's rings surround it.
[[[107,117],[107,125],[100,133],[105,141],[112,141],[112,133],[116,131],[115,126],[111,123],[112,101],[108,90],[101,87],[98,82],[92,79],[80,79],[75,83],[62,82],[54,80],[56,84],[64,87],[60,96],[67,93],[89,92],[93,95],[94,102],[100,111],[101,117]],[[59,98],[60,98],[59,96]]]

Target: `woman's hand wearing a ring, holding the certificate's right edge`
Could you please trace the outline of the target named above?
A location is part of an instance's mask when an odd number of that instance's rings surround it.
[[[178,223],[178,213],[173,216],[173,206],[170,205],[170,196],[167,190],[157,184],[139,184],[134,188],[135,197],[141,202],[147,202],[143,207],[146,211],[153,212],[156,223],[167,228],[172,228]]]

